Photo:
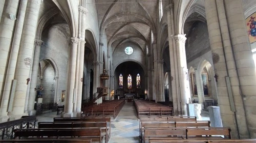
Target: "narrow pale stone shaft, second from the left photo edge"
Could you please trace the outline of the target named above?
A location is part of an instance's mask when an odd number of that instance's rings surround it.
[[[5,2],[5,1],[3,1],[3,2]],[[7,68],[7,72],[6,72],[5,85],[4,85],[3,97],[2,97],[1,108],[0,108],[0,116],[7,116],[7,106],[8,106],[8,101],[10,100],[9,95],[10,95],[11,90],[15,90],[15,89],[12,89],[11,86],[12,86],[12,81],[14,79],[14,74],[15,74],[15,68],[16,68],[16,63],[17,63],[17,58],[18,58],[20,39],[22,37],[22,30],[23,30],[26,8],[27,8],[27,1],[26,0],[21,1],[20,6],[19,6],[17,20],[16,20],[15,32],[13,35],[12,48],[11,48],[11,53],[10,53],[10,57],[9,57],[8,68]],[[4,35],[2,35],[2,36],[4,36]],[[1,47],[2,46],[0,46],[0,49],[1,49]],[[1,53],[2,52],[0,52],[0,55],[1,55]],[[1,56],[1,57],[3,57],[3,56]],[[1,64],[2,63],[0,63],[0,65]],[[0,81],[3,81],[3,80],[0,80]],[[0,92],[0,94],[1,94],[1,92]]]

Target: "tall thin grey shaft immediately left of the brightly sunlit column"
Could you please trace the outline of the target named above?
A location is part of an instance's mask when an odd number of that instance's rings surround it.
[[[174,28],[174,12],[173,12],[173,4],[166,6],[165,8],[167,13],[167,25],[168,25],[168,41],[169,41],[169,55],[170,55],[170,78],[172,82],[169,84],[172,87],[172,99],[173,99],[173,109],[174,115],[179,115],[181,112],[180,106],[180,98],[178,96],[179,93],[179,81],[178,81],[178,65],[177,65],[177,55],[176,53],[176,43],[174,39],[175,28]]]

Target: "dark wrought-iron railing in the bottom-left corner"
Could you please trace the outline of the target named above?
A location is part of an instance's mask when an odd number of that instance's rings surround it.
[[[0,134],[2,139],[13,139],[14,129],[35,128],[37,119],[35,116],[23,116],[21,119],[0,123]]]

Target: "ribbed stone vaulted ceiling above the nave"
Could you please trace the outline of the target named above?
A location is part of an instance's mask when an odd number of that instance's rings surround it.
[[[99,28],[113,51],[126,42],[145,49],[156,29],[158,1],[96,0],[96,5]]]

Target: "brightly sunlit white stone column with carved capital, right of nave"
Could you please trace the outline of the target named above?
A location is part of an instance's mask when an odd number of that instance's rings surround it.
[[[186,115],[186,104],[188,103],[189,89],[188,89],[188,77],[187,77],[187,64],[186,64],[186,52],[184,35],[178,34],[174,36],[177,49],[177,63],[178,63],[178,76],[179,76],[179,92],[181,101],[181,115]]]

